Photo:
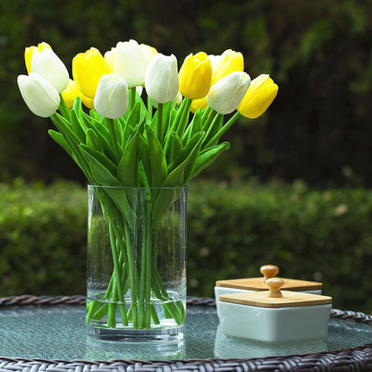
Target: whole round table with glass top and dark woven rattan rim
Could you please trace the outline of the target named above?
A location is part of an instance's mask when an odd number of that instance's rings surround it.
[[[372,316],[362,313],[332,310],[326,340],[267,344],[225,337],[215,300],[189,298],[185,341],[153,347],[89,339],[84,303],[0,298],[0,372],[372,371]]]

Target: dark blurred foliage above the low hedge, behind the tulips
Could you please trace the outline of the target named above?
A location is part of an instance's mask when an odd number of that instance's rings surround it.
[[[371,18],[368,0],[2,0],[0,179],[82,181],[48,138],[52,124],[21,99],[24,47],[47,41],[70,69],[91,46],[104,53],[135,38],[180,64],[199,50],[239,50],[252,78],[267,72],[279,84],[269,113],[237,123],[226,136],[232,150],[205,175],[370,186]]]

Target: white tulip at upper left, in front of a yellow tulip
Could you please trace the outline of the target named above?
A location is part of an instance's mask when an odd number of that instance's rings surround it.
[[[62,93],[69,83],[69,72],[58,55],[48,47],[42,51],[35,50],[31,57],[31,72],[52,84],[58,93]]]

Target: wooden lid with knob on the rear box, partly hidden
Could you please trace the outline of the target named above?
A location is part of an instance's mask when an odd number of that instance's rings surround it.
[[[267,291],[266,280],[275,277],[279,272],[279,268],[274,265],[265,265],[260,267],[260,271],[264,275],[263,277],[218,280],[216,286],[246,291]],[[283,278],[283,280],[283,290],[287,291],[315,291],[321,290],[323,286],[322,283],[305,280],[287,278]]]

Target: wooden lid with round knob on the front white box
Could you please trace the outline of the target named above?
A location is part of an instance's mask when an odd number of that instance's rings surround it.
[[[224,294],[219,296],[218,300],[259,308],[293,308],[332,303],[332,297],[328,296],[281,291],[284,284],[282,278],[270,278],[266,283],[269,291]]]

